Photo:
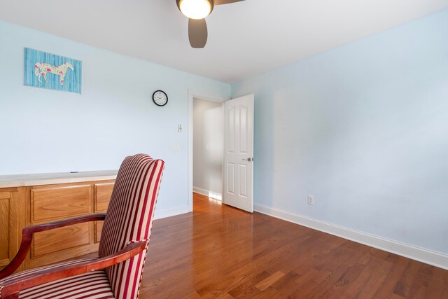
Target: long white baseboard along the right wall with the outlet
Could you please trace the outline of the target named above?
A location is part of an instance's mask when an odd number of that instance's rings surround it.
[[[318,221],[306,216],[281,211],[279,209],[267,207],[262,204],[254,204],[253,209],[262,214],[303,225],[307,228],[320,230],[321,232],[328,232],[330,235],[349,239],[360,244],[365,244],[367,246],[395,253],[399,256],[404,256],[406,258],[411,258],[412,260],[418,260],[419,262],[427,263],[429,265],[448,270],[448,255],[444,253],[430,251],[421,247],[397,242],[393,239],[386,239],[384,237],[370,235],[365,232],[360,232],[358,230],[344,228],[343,226],[335,225],[332,223]]]

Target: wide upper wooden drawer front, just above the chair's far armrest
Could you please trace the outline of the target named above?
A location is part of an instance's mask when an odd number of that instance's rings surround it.
[[[45,223],[92,212],[90,185],[31,190],[31,223]]]

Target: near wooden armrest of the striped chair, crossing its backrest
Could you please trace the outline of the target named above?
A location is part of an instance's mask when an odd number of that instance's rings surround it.
[[[76,265],[60,265],[51,269],[42,269],[41,271],[25,274],[16,279],[10,279],[2,285],[2,298],[18,298],[21,290],[121,263],[144,251],[147,244],[147,240],[132,242],[125,246],[124,249],[104,258],[87,260],[84,263],[78,263]]]

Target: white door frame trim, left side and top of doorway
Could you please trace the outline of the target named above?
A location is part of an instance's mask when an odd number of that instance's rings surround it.
[[[230,97],[188,90],[188,211],[193,211],[193,99],[224,103]],[[224,159],[224,157],[223,157]],[[224,189],[223,189],[224,190]]]

